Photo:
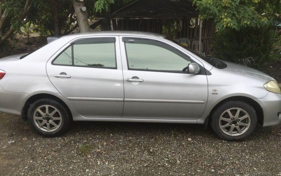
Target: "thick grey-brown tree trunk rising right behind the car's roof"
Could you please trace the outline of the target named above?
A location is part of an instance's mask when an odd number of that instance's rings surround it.
[[[86,12],[83,12],[80,10],[80,6],[83,5],[84,3],[78,3],[75,0],[73,1],[73,7],[77,16],[77,23],[80,29],[80,33],[85,33],[90,31],[90,25],[88,21],[88,16]]]

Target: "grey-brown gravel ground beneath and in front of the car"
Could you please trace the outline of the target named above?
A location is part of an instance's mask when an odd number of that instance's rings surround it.
[[[0,176],[281,176],[280,140],[281,125],[228,142],[199,125],[105,122],[44,138],[0,113]]]

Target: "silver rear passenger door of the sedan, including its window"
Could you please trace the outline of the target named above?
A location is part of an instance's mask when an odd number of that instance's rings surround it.
[[[124,88],[118,37],[82,38],[70,43],[48,61],[47,75],[82,116],[122,116]]]

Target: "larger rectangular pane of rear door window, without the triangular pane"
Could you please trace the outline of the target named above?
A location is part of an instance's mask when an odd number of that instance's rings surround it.
[[[73,52],[75,66],[116,68],[113,41],[78,42],[73,45]]]

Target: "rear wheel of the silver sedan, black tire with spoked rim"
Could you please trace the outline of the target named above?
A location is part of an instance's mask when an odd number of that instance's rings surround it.
[[[42,118],[42,120],[35,120],[35,118]],[[67,109],[52,99],[41,99],[34,102],[28,109],[27,120],[37,133],[45,137],[55,137],[63,134],[71,123],[71,117]],[[44,125],[40,127],[41,124]]]

